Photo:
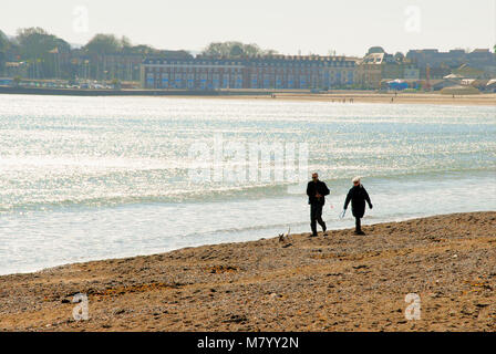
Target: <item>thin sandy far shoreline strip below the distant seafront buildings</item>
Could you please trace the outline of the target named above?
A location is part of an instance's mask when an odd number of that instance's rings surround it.
[[[452,95],[432,93],[378,93],[372,91],[329,91],[324,93],[278,92],[278,91],[165,91],[165,90],[62,90],[0,87],[0,94],[16,95],[55,95],[91,97],[161,97],[161,98],[214,98],[214,100],[270,100],[296,102],[329,103],[380,103],[380,104],[436,104],[436,105],[476,105],[496,106],[496,93],[473,95]]]

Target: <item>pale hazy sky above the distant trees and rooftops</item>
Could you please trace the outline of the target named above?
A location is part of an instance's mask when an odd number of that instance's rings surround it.
[[[86,15],[87,14],[87,15]],[[134,44],[202,50],[258,43],[285,54],[363,55],[369,46],[492,48],[496,0],[1,0],[0,29],[42,27],[70,43],[95,33]]]

